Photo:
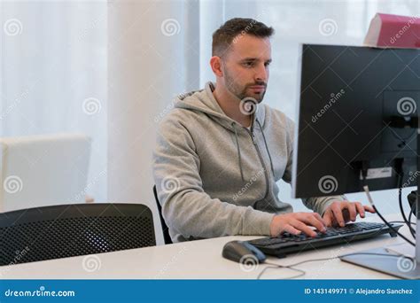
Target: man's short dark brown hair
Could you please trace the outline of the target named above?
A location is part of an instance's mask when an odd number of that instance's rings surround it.
[[[234,18],[226,21],[213,34],[212,56],[222,57],[232,43],[237,43],[243,35],[267,38],[274,34],[273,27],[249,18]]]

